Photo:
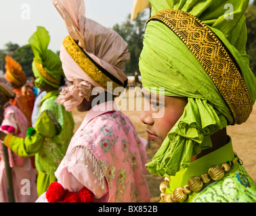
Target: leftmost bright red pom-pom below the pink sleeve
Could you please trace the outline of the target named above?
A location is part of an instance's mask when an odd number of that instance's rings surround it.
[[[52,182],[45,195],[48,202],[61,202],[66,195],[66,190],[58,182]]]

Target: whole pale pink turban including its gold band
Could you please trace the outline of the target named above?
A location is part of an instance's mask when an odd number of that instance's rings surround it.
[[[93,87],[108,90],[107,82],[112,82],[113,88],[126,86],[123,66],[130,55],[123,38],[114,30],[85,18],[83,0],[52,2],[70,34],[60,48],[60,59],[66,78],[73,82],[60,92],[56,102],[70,111],[83,99],[89,101]]]

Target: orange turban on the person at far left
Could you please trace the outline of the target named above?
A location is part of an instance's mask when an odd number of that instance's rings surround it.
[[[22,70],[22,66],[12,59],[12,57],[5,57],[5,79],[9,82],[22,87],[26,84],[26,74]]]

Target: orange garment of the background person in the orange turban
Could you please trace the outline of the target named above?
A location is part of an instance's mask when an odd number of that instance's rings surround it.
[[[14,99],[11,99],[12,104],[15,105],[22,111],[22,113],[26,116],[26,119],[28,119],[29,127],[32,125],[31,116],[32,116],[32,110],[29,109],[28,103],[26,102],[26,97],[22,94],[21,88],[15,88],[14,93],[16,94]]]

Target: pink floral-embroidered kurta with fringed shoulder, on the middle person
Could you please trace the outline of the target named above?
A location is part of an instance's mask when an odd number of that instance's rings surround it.
[[[146,140],[112,101],[91,109],[68,146],[55,175],[73,192],[86,187],[94,202],[150,202]],[[37,202],[47,202],[43,194]]]

